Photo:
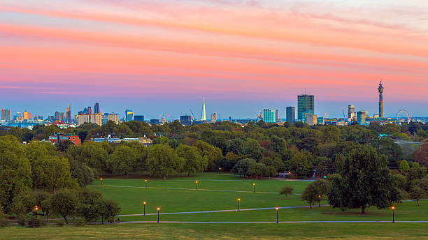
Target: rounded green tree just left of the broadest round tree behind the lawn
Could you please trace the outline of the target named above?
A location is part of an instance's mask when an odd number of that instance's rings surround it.
[[[137,158],[135,149],[119,144],[107,160],[108,170],[113,173],[125,174],[129,177],[129,173],[136,169]]]

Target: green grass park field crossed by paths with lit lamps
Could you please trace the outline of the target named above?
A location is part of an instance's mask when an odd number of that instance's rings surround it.
[[[276,179],[239,179],[231,174],[197,174],[192,177],[173,177],[168,180],[145,177],[113,179],[104,177],[103,186],[94,181],[90,188],[101,191],[104,197],[117,200],[120,214],[143,213],[142,202],[147,202],[146,213],[177,213],[192,211],[233,210],[215,213],[180,213],[161,215],[160,221],[183,222],[274,222],[274,209],[239,211],[241,209],[306,206],[301,195],[279,195],[282,186],[293,186],[294,193],[302,193],[308,181],[281,181]],[[198,190],[195,181],[198,180]],[[256,193],[252,193],[252,183]],[[182,188],[182,189],[179,189]],[[327,201],[322,204],[328,204]],[[404,202],[395,211],[395,220],[428,220],[428,201]],[[323,220],[392,220],[392,211],[367,209],[340,211],[331,207],[280,209],[280,221]],[[156,221],[157,215],[120,216],[124,221]],[[39,229],[6,227],[0,229],[0,238],[22,239],[427,239],[428,223],[127,223],[120,225],[87,225],[85,227],[56,227]],[[3,234],[1,234],[3,232]],[[7,237],[6,237],[7,236]]]

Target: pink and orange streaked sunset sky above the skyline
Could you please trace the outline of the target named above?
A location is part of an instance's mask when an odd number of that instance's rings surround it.
[[[0,0],[0,107],[428,116],[426,0]]]

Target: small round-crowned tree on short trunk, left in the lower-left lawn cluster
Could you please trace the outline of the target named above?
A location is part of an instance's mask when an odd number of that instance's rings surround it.
[[[60,189],[57,193],[52,195],[51,199],[52,213],[62,216],[67,224],[67,216],[76,213],[78,207],[78,194],[76,190]]]

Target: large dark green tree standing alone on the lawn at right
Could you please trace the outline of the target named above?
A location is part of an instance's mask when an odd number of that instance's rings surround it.
[[[338,174],[331,176],[329,203],[332,207],[361,208],[390,207],[392,202],[392,179],[387,160],[378,157],[368,145],[345,147],[342,158],[336,157]],[[329,177],[330,179],[330,177]]]

